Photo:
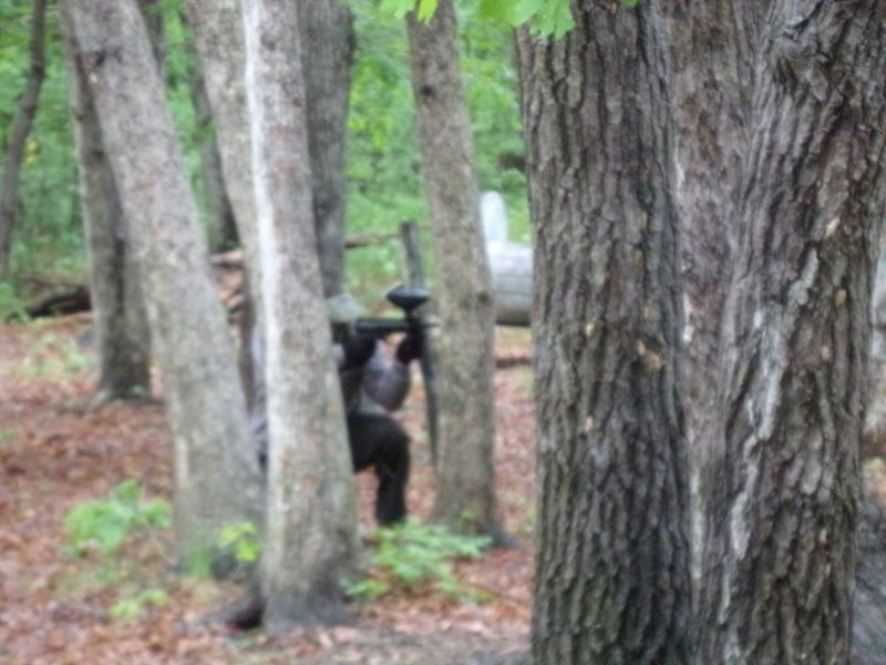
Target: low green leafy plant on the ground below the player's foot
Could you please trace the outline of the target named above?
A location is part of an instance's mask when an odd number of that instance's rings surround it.
[[[491,544],[486,536],[460,535],[442,524],[403,524],[375,529],[369,538],[373,551],[368,574],[346,585],[354,597],[374,598],[393,590],[415,591],[430,585],[456,598],[483,600],[452,570],[459,559],[480,559]]]

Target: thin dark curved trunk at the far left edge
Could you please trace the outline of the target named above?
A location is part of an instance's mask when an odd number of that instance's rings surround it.
[[[19,173],[24,160],[24,147],[31,124],[37,115],[40,88],[47,75],[45,55],[47,0],[34,0],[31,14],[31,64],[28,83],[19,102],[19,113],[12,125],[7,155],[3,163],[3,183],[0,190],[0,279],[9,273],[9,255],[12,246],[12,229],[19,203]]]

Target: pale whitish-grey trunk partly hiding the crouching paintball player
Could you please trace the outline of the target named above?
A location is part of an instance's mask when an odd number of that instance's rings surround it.
[[[247,0],[246,91],[261,259],[268,412],[265,626],[344,617],[356,510],[311,207],[298,12]]]

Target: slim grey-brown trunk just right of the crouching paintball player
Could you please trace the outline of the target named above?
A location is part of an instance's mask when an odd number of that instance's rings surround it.
[[[433,513],[454,526],[495,535],[495,315],[455,10],[451,0],[441,0],[427,24],[413,13],[406,22],[437,275],[440,444]]]

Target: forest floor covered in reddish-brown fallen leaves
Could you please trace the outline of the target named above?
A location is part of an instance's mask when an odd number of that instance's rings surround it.
[[[528,334],[496,347],[496,484],[511,550],[459,563],[482,602],[402,592],[351,605],[353,623],[270,638],[200,618],[240,595],[231,584],[173,572],[168,530],[113,560],[65,554],[65,514],[127,479],[172,498],[169,437],[157,401],[86,409],[95,381],[89,315],[0,325],[0,663],[462,665],[527,647],[535,470]],[[400,417],[413,433],[411,513],[424,519],[433,473],[421,389]],[[361,529],[372,526],[374,479],[358,477]],[[134,620],[109,610],[146,590],[166,601]]]

